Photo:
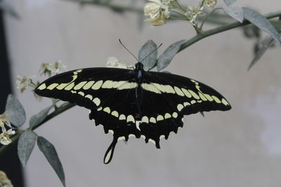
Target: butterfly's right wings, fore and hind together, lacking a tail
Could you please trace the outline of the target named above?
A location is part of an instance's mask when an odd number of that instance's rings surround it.
[[[199,81],[162,72],[145,72],[141,84],[140,125],[145,141],[159,148],[159,139],[183,127],[183,116],[203,111],[227,111],[227,100]]]

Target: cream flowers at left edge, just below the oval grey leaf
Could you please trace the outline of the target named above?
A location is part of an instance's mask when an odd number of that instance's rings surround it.
[[[0,134],[0,143],[3,145],[8,145],[11,144],[11,139],[10,139],[10,135],[15,134],[15,131],[13,129],[9,129],[8,131],[6,130],[5,125],[8,125],[9,127],[11,127],[10,122],[8,121],[8,119],[6,118],[5,113],[2,113],[0,115],[0,127],[1,127],[1,134]]]

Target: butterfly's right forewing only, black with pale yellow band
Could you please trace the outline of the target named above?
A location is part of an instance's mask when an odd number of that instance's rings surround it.
[[[162,72],[148,72],[145,79],[150,82],[147,90],[157,88],[175,111],[183,115],[203,111],[228,111],[230,104],[214,88],[191,78]]]

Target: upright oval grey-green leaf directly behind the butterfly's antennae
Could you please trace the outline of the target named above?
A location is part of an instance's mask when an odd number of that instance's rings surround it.
[[[141,47],[141,50],[138,52],[138,61],[143,64],[143,69],[145,69],[145,71],[148,71],[155,67],[155,64],[157,62],[156,49],[157,46],[154,41],[149,40]],[[153,50],[155,50],[155,52],[152,53]]]

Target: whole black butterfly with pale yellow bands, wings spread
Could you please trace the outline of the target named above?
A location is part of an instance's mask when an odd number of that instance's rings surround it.
[[[228,101],[199,81],[164,72],[145,71],[141,62],[134,69],[108,67],[67,71],[48,78],[37,95],[84,106],[90,120],[103,125],[113,140],[105,153],[112,160],[117,141],[143,137],[160,148],[159,140],[183,127],[183,116],[204,111],[227,111]]]

